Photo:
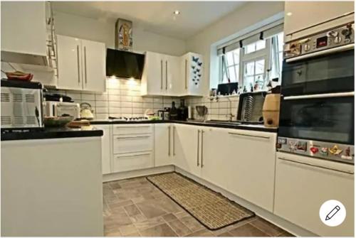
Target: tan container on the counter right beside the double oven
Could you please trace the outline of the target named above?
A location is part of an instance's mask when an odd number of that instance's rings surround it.
[[[263,103],[263,124],[266,127],[278,127],[281,94],[267,94]]]

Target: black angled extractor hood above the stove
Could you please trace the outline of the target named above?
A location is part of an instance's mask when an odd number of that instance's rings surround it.
[[[125,50],[107,49],[106,51],[106,76],[108,77],[140,80],[144,64],[145,55]]]

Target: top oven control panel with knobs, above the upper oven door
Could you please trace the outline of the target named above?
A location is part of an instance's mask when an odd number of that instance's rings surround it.
[[[345,26],[286,43],[284,45],[284,58],[293,58],[351,43],[355,43],[355,24],[347,23]]]

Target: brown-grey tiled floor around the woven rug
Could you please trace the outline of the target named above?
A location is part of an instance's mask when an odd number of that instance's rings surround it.
[[[103,183],[105,236],[289,237],[288,232],[251,217],[210,231],[146,178]]]

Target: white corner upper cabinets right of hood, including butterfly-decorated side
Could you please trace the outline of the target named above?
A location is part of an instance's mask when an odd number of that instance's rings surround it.
[[[141,80],[141,95],[201,96],[202,57],[187,53],[182,57],[147,52]]]

